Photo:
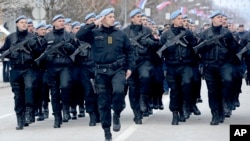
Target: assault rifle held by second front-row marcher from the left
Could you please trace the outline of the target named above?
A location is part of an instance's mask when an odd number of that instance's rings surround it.
[[[45,59],[48,55],[52,55],[53,53],[60,53],[60,51],[58,50],[60,47],[62,47],[64,45],[65,42],[61,41],[58,42],[54,45],[49,46],[48,48],[46,48],[46,50],[38,57],[35,59],[35,62],[39,65],[40,61]]]

